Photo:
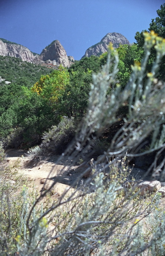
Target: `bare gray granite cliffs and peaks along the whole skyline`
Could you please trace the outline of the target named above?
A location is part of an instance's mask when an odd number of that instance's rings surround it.
[[[83,57],[89,57],[91,55],[100,55],[107,52],[108,44],[112,42],[114,48],[119,47],[119,44],[128,44],[130,42],[119,33],[108,33],[101,39],[99,43],[91,46],[85,52]],[[28,61],[35,64],[43,64],[51,67],[52,65],[62,65],[64,67],[70,67],[74,63],[72,56],[67,56],[64,47],[58,40],[51,42],[42,50],[41,54],[33,54],[28,48],[23,45],[19,45],[3,38],[0,39],[0,55],[12,56],[20,58],[23,61]]]

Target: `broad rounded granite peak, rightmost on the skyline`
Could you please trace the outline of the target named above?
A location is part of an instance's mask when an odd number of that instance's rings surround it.
[[[107,52],[108,44],[112,42],[114,48],[118,48],[119,44],[128,44],[130,45],[130,42],[127,40],[124,35],[120,33],[108,33],[101,39],[101,41],[91,47],[89,47],[85,55],[82,57],[90,57],[91,55],[99,56],[104,52]]]

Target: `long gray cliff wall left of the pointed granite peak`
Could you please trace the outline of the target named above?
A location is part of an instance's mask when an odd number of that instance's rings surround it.
[[[5,43],[0,39],[0,55],[20,58],[23,61],[32,62],[33,53],[23,45]]]

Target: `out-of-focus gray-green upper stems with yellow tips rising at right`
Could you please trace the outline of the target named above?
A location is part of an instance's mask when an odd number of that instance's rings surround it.
[[[151,72],[146,74],[146,65],[150,55],[150,49],[153,46],[156,36],[151,35],[153,43],[150,43],[150,35],[146,35],[145,57],[141,66],[135,63],[132,66],[130,81],[122,90],[120,84],[114,85],[114,80],[118,72],[118,54],[115,52],[114,70],[109,74],[110,56],[107,65],[103,67],[102,72],[93,75],[93,84],[89,94],[88,112],[81,125],[79,136],[74,144],[84,147],[87,138],[93,131],[100,135],[106,127],[117,123],[120,120],[118,110],[121,106],[128,105],[128,114],[124,118],[124,125],[116,132],[112,139],[107,154],[110,156],[132,157],[137,152],[139,146],[145,138],[152,132],[154,134],[151,148],[154,151],[164,147],[164,137],[157,141],[160,134],[160,126],[164,123],[164,93],[165,87],[162,82],[154,78],[158,70],[161,58],[164,56],[164,44],[161,45],[160,38],[157,39],[157,57],[153,63]],[[149,42],[148,42],[148,41]],[[111,87],[110,95],[107,90]],[[153,114],[154,113],[154,114]],[[164,134],[164,129],[162,129]],[[156,142],[157,141],[157,142]],[[163,145],[163,146],[162,146]]]

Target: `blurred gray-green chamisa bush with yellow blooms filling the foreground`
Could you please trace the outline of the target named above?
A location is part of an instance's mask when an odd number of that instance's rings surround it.
[[[100,135],[118,122],[116,113],[127,102],[124,124],[103,157],[96,163],[91,160],[91,166],[80,172],[60,199],[49,197],[50,190],[53,187],[55,190],[59,182],[56,177],[50,188],[41,191],[38,197],[23,187],[19,195],[1,200],[0,255],[165,255],[165,211],[161,193],[142,195],[138,189],[126,186],[130,174],[128,158],[155,151],[153,174],[157,168],[162,169],[160,177],[163,178],[165,172],[164,160],[157,166],[157,159],[165,148],[165,84],[156,79],[165,55],[165,39],[153,31],[144,36],[145,57],[132,66],[130,81],[124,89],[115,80],[118,54],[109,46],[107,64],[99,74],[93,75],[87,114],[61,156],[69,155],[69,159],[77,161],[88,151],[87,142],[92,133],[96,133],[93,138],[96,140],[97,133]],[[157,57],[151,70],[146,71],[152,47]],[[112,64],[113,70],[109,73]],[[57,131],[56,127],[53,129]],[[152,135],[150,147],[140,151],[149,135]],[[49,134],[44,136],[49,145]],[[52,130],[50,137],[53,136]],[[91,176],[85,180],[83,177],[88,171]]]

